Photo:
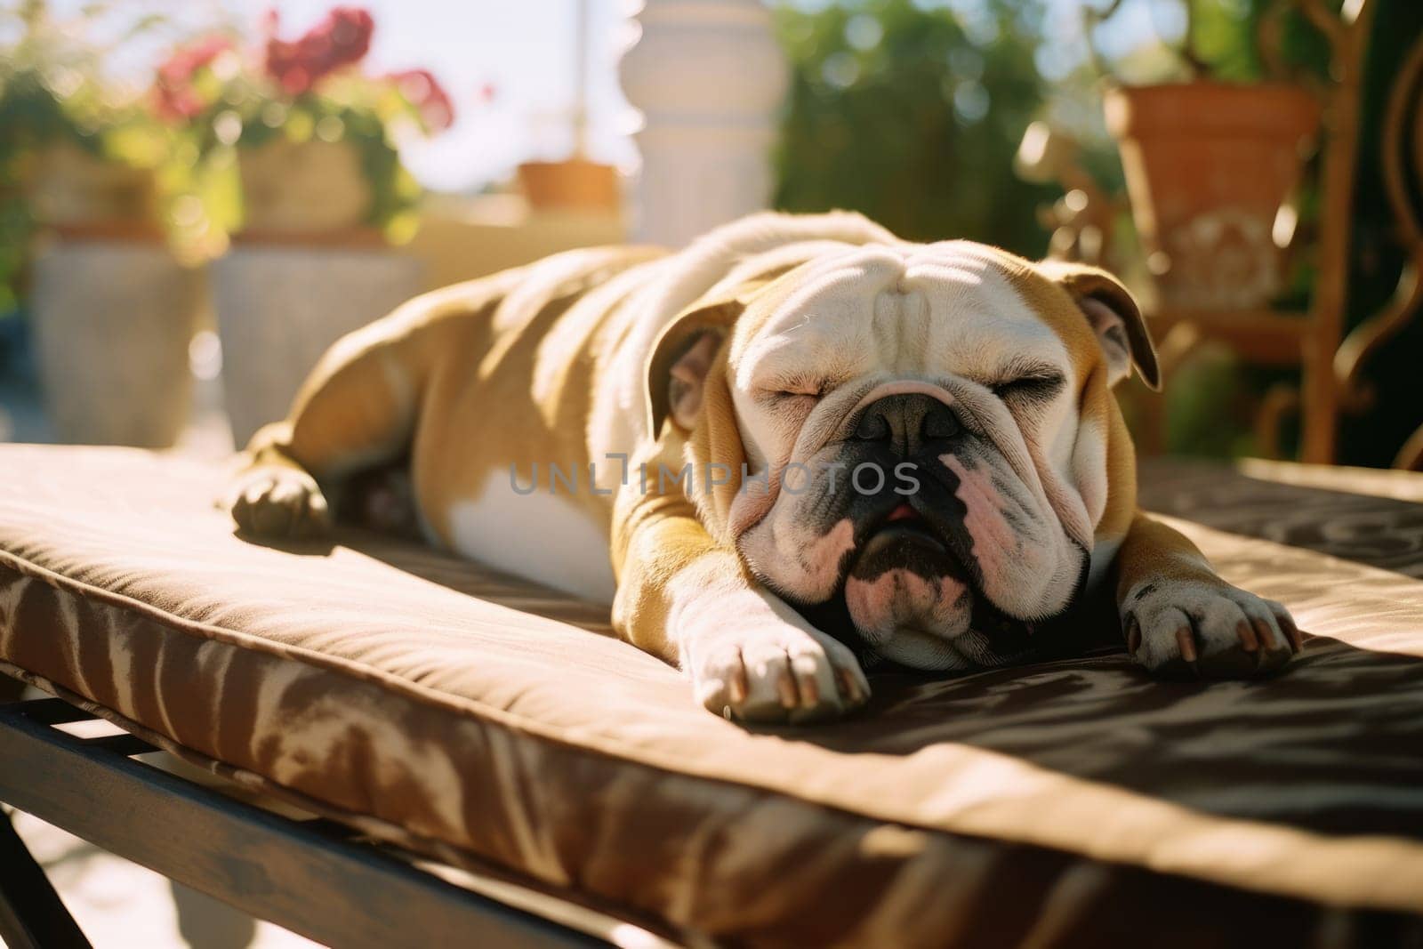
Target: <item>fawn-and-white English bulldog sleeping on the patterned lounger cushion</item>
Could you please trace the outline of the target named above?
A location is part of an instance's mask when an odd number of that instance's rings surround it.
[[[431,544],[609,602],[743,720],[861,706],[861,657],[1012,663],[1099,588],[1148,670],[1272,672],[1289,613],[1136,507],[1133,367],[1158,386],[1103,270],[761,213],[411,300],[332,347],[223,502],[319,534],[396,465]]]

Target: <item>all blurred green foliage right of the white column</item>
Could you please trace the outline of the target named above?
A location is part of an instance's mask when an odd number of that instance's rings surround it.
[[[1340,0],[1329,0],[1339,9]],[[1103,73],[1081,46],[1080,11],[1103,9],[1063,0],[842,0],[785,3],[777,9],[793,65],[783,139],[777,149],[776,205],[790,211],[850,208],[915,239],[969,238],[1029,258],[1047,249],[1037,208],[1054,186],[1020,181],[1013,155],[1023,129],[1047,120],[1079,145],[1079,162],[1107,193],[1121,193],[1116,144],[1101,117]],[[1123,83],[1175,81],[1188,75],[1178,54],[1184,33],[1208,74],[1259,81],[1272,74],[1261,57],[1262,20],[1279,0],[1127,0],[1146,10],[1155,36],[1106,55],[1101,70]],[[1066,14],[1066,16],[1064,16]],[[1292,78],[1329,78],[1325,37],[1298,13],[1278,18],[1279,67]],[[1103,27],[1099,27],[1099,31]],[[1419,0],[1379,0],[1360,129],[1360,175],[1352,246],[1349,324],[1392,293],[1402,256],[1390,243],[1393,222],[1379,168],[1382,110],[1402,57],[1423,28]],[[1309,242],[1318,195],[1313,174],[1302,185],[1298,243],[1279,306],[1303,309],[1313,283]],[[1140,269],[1130,219],[1123,215],[1113,266]],[[1377,360],[1370,376],[1379,397],[1346,417],[1340,461],[1386,465],[1417,425],[1423,386],[1410,369],[1423,353],[1416,322]],[[1258,451],[1255,408],[1298,373],[1252,367],[1228,349],[1207,344],[1181,367],[1167,393],[1168,451],[1234,457]],[[1144,393],[1133,393],[1136,397]],[[1130,397],[1128,397],[1130,401]],[[1128,405],[1128,417],[1130,417]],[[1282,440],[1295,450],[1295,433]]]

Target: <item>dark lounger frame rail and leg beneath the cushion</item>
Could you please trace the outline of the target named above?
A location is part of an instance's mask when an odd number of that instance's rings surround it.
[[[128,756],[154,748],[132,734],[81,738],[51,727],[91,717],[58,699],[0,706],[0,801],[316,942],[603,946],[603,932],[622,925],[569,928],[356,839],[344,825],[280,817],[135,761]],[[26,949],[88,946],[7,820],[0,938]]]

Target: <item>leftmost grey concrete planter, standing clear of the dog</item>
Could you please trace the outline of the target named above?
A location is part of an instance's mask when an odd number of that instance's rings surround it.
[[[188,420],[202,273],[157,242],[61,240],[36,258],[31,300],[57,437],[172,445]]]

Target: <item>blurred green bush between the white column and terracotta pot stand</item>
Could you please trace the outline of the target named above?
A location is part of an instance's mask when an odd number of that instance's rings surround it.
[[[988,0],[972,18],[909,0],[780,9],[794,71],[776,205],[1040,248],[1036,206],[1053,195],[1013,175],[1013,154],[1047,98],[1042,20],[1035,0]]]

